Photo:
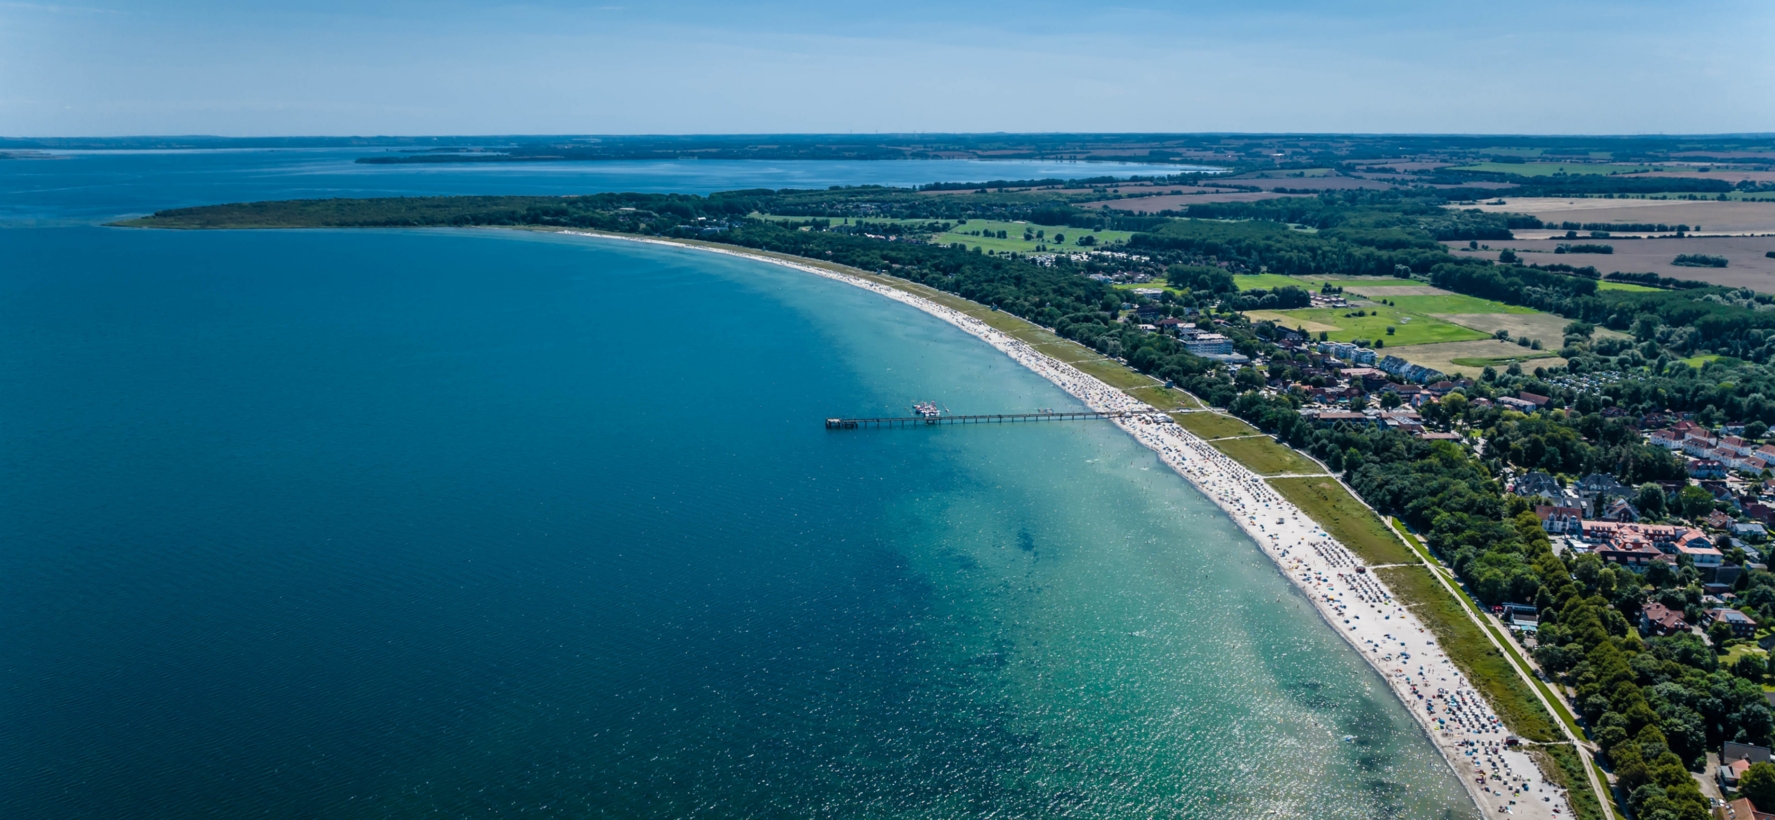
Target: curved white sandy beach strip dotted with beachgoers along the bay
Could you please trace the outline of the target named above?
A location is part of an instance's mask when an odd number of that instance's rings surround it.
[[[568,236],[637,241],[708,250],[863,288],[935,316],[998,348],[1017,364],[1067,390],[1092,410],[1152,412],[1115,424],[1157,453],[1159,460],[1219,506],[1269,556],[1276,568],[1312,602],[1319,616],[1342,635],[1413,714],[1468,795],[1486,815],[1569,818],[1564,790],[1546,779],[1530,756],[1503,745],[1509,735],[1486,699],[1438,650],[1434,635],[1404,607],[1363,561],[1337,543],[1260,476],[1221,454],[1170,417],[1070,364],[1037,351],[985,321],[863,277],[744,248],[623,236],[589,231],[552,231]],[[1164,421],[1156,421],[1163,417]],[[1274,516],[1274,524],[1269,518]],[[1369,616],[1363,621],[1361,616]],[[1489,756],[1487,763],[1486,761]],[[1512,786],[1526,792],[1512,793]],[[1546,800],[1542,800],[1546,797]]]

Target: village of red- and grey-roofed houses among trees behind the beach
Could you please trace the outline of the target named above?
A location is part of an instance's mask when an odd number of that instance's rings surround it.
[[[1299,417],[1321,428],[1399,431],[1482,454],[1487,445],[1482,431],[1452,421],[1450,414],[1438,412],[1438,405],[1457,398],[1464,410],[1523,419],[1558,414],[1566,419],[1580,412],[1571,406],[1574,394],[1594,398],[1601,387],[1622,378],[1610,371],[1582,376],[1535,373],[1537,380],[1557,389],[1546,394],[1500,390],[1496,383],[1482,387],[1464,375],[1450,376],[1383,350],[1315,341],[1312,334],[1278,323],[1212,318],[1195,309],[1180,311],[1186,318],[1166,316],[1179,311],[1161,304],[1161,289],[1134,288],[1132,293],[1141,302],[1124,305],[1124,321],[1147,334],[1175,337],[1182,350],[1234,375],[1250,369],[1258,378],[1248,380],[1248,385],[1267,396],[1292,398]],[[1329,302],[1329,296],[1314,295],[1314,305],[1321,302]],[[1230,335],[1235,323],[1255,327],[1253,335],[1260,343],[1235,344]],[[1273,362],[1282,367],[1271,367]],[[1285,378],[1278,375],[1283,369],[1289,371]],[[1486,382],[1493,382],[1491,369],[1486,371]],[[1521,375],[1519,367],[1512,364],[1511,375]],[[1658,587],[1667,589],[1640,607],[1638,623],[1631,627],[1642,637],[1693,635],[1720,655],[1722,666],[1748,664],[1754,671],[1745,674],[1763,678],[1775,648],[1775,625],[1748,605],[1745,580],[1750,572],[1768,570],[1768,552],[1775,548],[1770,541],[1770,529],[1775,527],[1775,437],[1770,428],[1754,421],[1706,419],[1706,414],[1695,412],[1628,412],[1590,405],[1590,412],[1613,422],[1631,440],[1667,451],[1681,463],[1681,474],[1629,486],[1608,472],[1505,469],[1498,477],[1507,492],[1534,511],[1557,556],[1567,561],[1594,556],[1606,566],[1654,579]],[[1324,557],[1333,566],[1340,564],[1337,556]],[[1356,575],[1338,575],[1344,577]],[[1310,573],[1306,580],[1329,579]],[[1539,611],[1534,600],[1505,600],[1489,607],[1489,618],[1509,630],[1525,657],[1534,657]],[[1537,669],[1535,674],[1558,685],[1546,671]],[[1768,708],[1775,710],[1775,687],[1764,683],[1763,689]],[[1576,690],[1564,689],[1562,694],[1576,701]],[[1757,763],[1775,774],[1768,745],[1724,740],[1706,751],[1693,779],[1718,818],[1775,816],[1738,790],[1741,777]]]

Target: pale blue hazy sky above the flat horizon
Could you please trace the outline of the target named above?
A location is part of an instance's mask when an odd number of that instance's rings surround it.
[[[0,0],[0,135],[1775,131],[1768,0]]]

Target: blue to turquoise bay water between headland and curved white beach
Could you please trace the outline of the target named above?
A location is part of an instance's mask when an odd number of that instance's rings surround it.
[[[509,233],[0,252],[0,815],[1473,815],[1115,428],[825,431],[1072,403],[903,305]]]

